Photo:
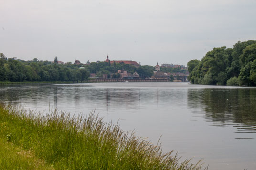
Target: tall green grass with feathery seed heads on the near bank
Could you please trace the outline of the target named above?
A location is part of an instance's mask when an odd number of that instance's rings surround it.
[[[180,162],[177,155],[162,153],[160,146],[125,133],[118,125],[106,124],[93,114],[74,118],[55,110],[44,115],[0,105],[0,144],[31,154],[34,163],[40,162],[45,169],[201,169],[200,162]],[[15,161],[0,157],[0,162]]]

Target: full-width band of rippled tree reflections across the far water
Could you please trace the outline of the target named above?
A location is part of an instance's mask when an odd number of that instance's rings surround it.
[[[191,88],[192,87],[192,88]],[[95,110],[162,112],[188,110],[201,113],[210,125],[232,125],[237,133],[256,133],[256,88],[152,88],[84,85],[17,85],[0,87],[1,102],[71,112]],[[169,109],[168,109],[169,108]]]

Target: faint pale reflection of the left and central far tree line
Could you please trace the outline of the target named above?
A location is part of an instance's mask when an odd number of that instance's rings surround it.
[[[184,95],[186,93],[184,92]],[[89,107],[118,107],[139,109],[142,102],[148,106],[149,103],[166,103],[180,101],[173,90],[158,89],[112,89],[112,88],[90,88],[90,86],[53,86],[53,85],[15,85],[0,88],[1,101],[8,104],[20,103],[22,100],[30,104],[42,104],[59,107],[60,103],[72,103],[76,106],[89,105]],[[183,95],[181,95],[183,96]],[[86,103],[86,104],[85,104]],[[95,108],[93,108],[95,109]]]

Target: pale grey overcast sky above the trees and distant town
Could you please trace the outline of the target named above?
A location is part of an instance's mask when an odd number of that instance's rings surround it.
[[[256,40],[256,0],[0,0],[0,53],[23,60],[200,60]]]

